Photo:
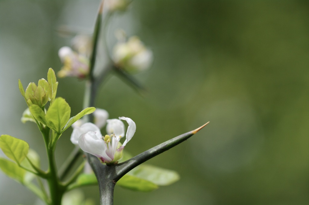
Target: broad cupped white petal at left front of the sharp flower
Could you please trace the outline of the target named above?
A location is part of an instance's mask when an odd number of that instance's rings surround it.
[[[104,155],[106,146],[104,140],[99,138],[95,132],[86,132],[78,139],[79,147],[87,153],[101,157]]]

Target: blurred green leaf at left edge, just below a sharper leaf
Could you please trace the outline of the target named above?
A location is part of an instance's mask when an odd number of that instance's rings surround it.
[[[26,171],[20,168],[16,163],[4,158],[0,158],[0,169],[10,178],[23,184]]]

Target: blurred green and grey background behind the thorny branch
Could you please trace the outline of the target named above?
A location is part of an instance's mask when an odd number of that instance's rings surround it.
[[[0,1],[0,133],[26,140],[47,168],[34,123],[22,124],[18,90],[60,70],[57,52],[73,36],[91,33],[99,0]],[[154,53],[135,75],[141,96],[111,75],[97,107],[127,116],[137,131],[133,155],[210,121],[179,146],[148,161],[174,169],[180,181],[148,193],[115,188],[115,204],[309,203],[309,1],[135,0],[108,26],[108,44],[123,28]],[[58,78],[57,96],[72,115],[83,106],[84,81]],[[57,146],[60,166],[74,148],[69,129]],[[1,151],[0,151],[1,152]],[[3,153],[0,155],[3,157]],[[98,188],[83,189],[98,202]],[[0,204],[32,205],[36,197],[0,172]]]

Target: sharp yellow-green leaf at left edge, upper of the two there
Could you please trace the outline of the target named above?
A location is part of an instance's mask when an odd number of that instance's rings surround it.
[[[0,148],[7,157],[20,164],[28,154],[29,144],[9,135],[1,135]]]

